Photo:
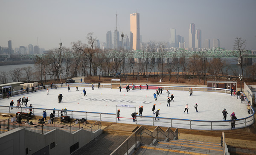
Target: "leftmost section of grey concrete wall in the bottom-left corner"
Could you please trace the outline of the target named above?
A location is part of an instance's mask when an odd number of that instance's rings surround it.
[[[25,155],[25,129],[16,128],[0,134],[0,155]]]

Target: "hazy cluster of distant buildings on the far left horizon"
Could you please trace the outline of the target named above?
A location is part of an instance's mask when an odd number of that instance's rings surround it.
[[[44,48],[39,48],[38,45],[20,46],[19,48],[12,48],[12,40],[8,41],[8,47],[0,46],[0,54],[44,54]]]

